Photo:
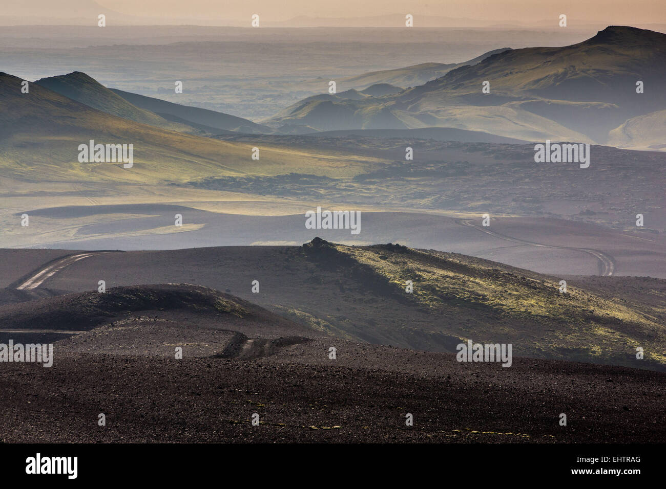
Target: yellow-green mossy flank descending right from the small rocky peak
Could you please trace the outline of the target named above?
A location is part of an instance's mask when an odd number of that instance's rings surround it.
[[[331,263],[364,270],[368,293],[379,292],[387,305],[398,301],[412,310],[404,313],[404,335],[414,334],[412,330],[446,337],[448,349],[472,339],[512,343],[513,355],[666,367],[663,301],[661,306],[631,303],[575,283],[560,293],[557,277],[456,253],[400,245],[304,246],[327,255]],[[413,293],[405,291],[408,280],[414,283]],[[382,303],[370,313],[382,317]],[[429,319],[422,319],[422,313]],[[375,327],[381,331],[387,325],[377,320]],[[637,347],[645,351],[641,364]]]

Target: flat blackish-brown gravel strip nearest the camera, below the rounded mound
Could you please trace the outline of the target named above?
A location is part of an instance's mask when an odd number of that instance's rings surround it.
[[[326,349],[318,353],[327,358]],[[302,365],[280,355],[75,355],[57,358],[51,369],[3,366],[2,441],[661,442],[666,436],[660,373],[529,359],[501,370],[382,347],[347,353],[372,367],[342,359]],[[392,371],[396,356],[406,371]],[[106,426],[97,425],[101,412]],[[259,426],[250,423],[255,412]],[[567,426],[558,424],[561,412]],[[414,426],[405,425],[406,413]]]

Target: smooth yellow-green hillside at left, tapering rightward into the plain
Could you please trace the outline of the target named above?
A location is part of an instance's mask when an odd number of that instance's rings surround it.
[[[0,171],[30,181],[184,182],[206,176],[288,174],[354,176],[376,162],[342,152],[224,142],[106,114],[43,86],[0,73]],[[79,144],[133,144],[134,166],[79,163]]]

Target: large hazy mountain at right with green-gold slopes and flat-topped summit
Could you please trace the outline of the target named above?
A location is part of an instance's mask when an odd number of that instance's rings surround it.
[[[446,72],[380,97],[309,97],[264,123],[289,132],[448,127],[528,141],[663,147],[659,130],[649,128],[660,126],[659,111],[666,108],[658,88],[666,76],[665,34],[611,26],[571,46],[502,49],[481,58],[453,68],[426,64],[352,77],[346,82],[398,83],[418,79],[415,73]],[[484,82],[489,93],[482,92]]]

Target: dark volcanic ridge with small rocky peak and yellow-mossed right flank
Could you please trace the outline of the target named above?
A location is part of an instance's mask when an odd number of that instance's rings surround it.
[[[258,303],[310,331],[353,341],[452,353],[472,339],[511,343],[513,354],[523,357],[666,365],[665,299],[658,290],[653,293],[653,282],[642,285],[641,279],[627,279],[634,290],[622,295],[590,290],[567,277],[563,294],[561,277],[466,255],[315,239],[300,247],[94,255],[43,286],[94,291],[99,279],[107,287],[196,282]],[[254,280],[259,293],[251,292]],[[413,293],[405,290],[408,280]],[[15,307],[11,310],[22,306]],[[0,319],[15,321],[7,315],[10,309],[2,311]],[[636,359],[637,347],[645,359]]]

